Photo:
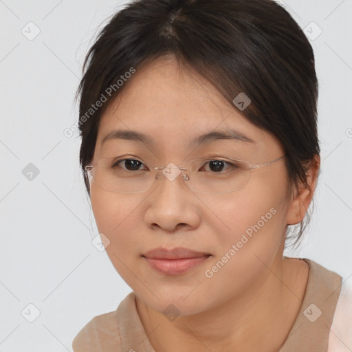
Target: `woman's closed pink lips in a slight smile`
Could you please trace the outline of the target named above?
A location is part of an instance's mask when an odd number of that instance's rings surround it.
[[[143,256],[148,264],[158,272],[168,275],[177,275],[199,265],[201,262],[208,259],[210,254],[195,252],[187,248],[175,248],[173,250],[156,248]]]

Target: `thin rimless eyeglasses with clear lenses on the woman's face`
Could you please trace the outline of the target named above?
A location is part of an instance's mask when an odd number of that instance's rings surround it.
[[[186,186],[201,193],[228,193],[240,190],[248,184],[252,170],[270,165],[282,159],[278,157],[264,164],[251,165],[238,159],[195,159],[178,167],[173,162],[167,166],[148,168],[137,159],[102,158],[94,165],[85,166],[89,184],[94,180],[103,190],[115,193],[145,192],[162,174],[174,181],[180,174]],[[146,167],[146,168],[142,168]]]

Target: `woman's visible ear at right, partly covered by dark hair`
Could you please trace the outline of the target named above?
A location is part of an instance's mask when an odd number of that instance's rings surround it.
[[[307,188],[305,184],[300,182],[298,188],[295,189],[295,195],[292,199],[292,203],[287,211],[287,224],[295,225],[300,223],[305,218],[305,214],[313,199],[314,191],[316,190],[316,184],[318,181],[318,173],[320,168],[320,156],[315,155],[311,162],[309,162],[309,168],[307,168],[307,183],[310,187]]]

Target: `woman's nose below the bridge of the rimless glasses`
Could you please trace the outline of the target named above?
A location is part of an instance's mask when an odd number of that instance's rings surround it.
[[[184,184],[186,173],[170,164],[157,174],[157,186],[147,198],[150,203],[144,221],[149,228],[167,232],[197,228],[201,220],[199,200]]]

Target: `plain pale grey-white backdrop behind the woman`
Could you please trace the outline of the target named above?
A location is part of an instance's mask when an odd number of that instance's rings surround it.
[[[314,47],[322,150],[311,224],[285,255],[351,280],[352,1],[280,2]],[[121,5],[0,0],[0,352],[72,351],[76,333],[131,292],[91,243],[80,138],[63,133],[78,119],[83,58]]]

